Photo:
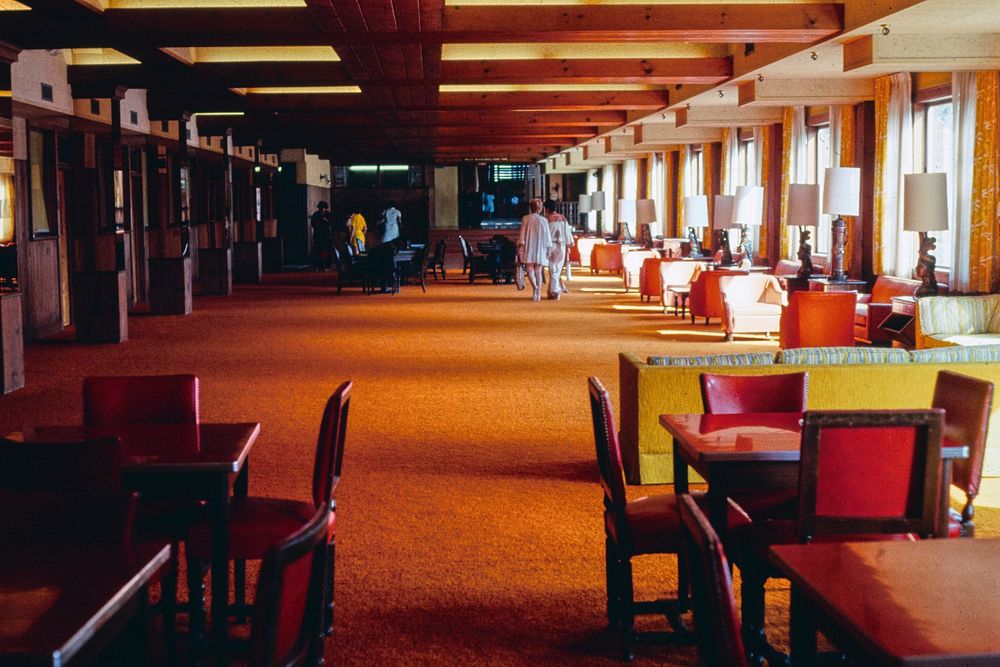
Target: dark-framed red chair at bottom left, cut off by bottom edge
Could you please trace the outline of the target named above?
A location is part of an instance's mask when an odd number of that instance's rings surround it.
[[[319,507],[271,546],[257,579],[250,664],[312,664],[322,657],[323,577],[330,509]]]

